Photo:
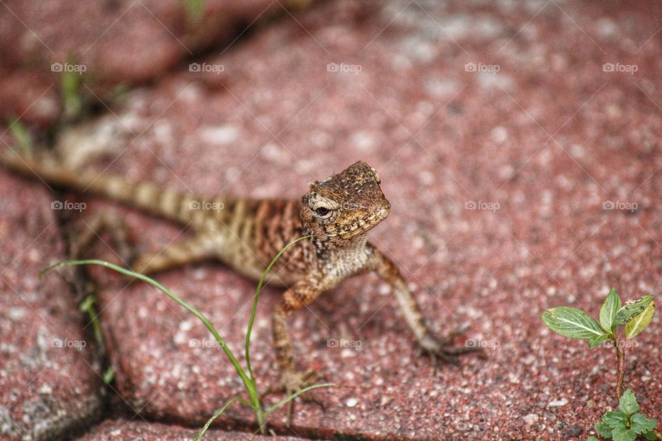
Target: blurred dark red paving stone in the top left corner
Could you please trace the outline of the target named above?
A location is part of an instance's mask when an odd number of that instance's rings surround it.
[[[87,87],[81,95],[97,104],[99,96],[112,96],[113,86],[154,79],[205,48],[230,43],[249,24],[306,3],[5,1],[0,12],[0,116],[46,125],[61,114],[58,90],[65,70],[83,76]],[[187,4],[201,9],[188,12]]]

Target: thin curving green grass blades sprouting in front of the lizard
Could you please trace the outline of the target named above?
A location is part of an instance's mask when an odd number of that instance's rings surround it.
[[[281,251],[276,255],[276,257],[274,257],[274,259],[271,261],[271,263],[267,266],[264,273],[262,274],[262,277],[260,278],[260,281],[257,285],[257,289],[255,290],[253,306],[252,306],[252,309],[250,311],[250,319],[248,320],[248,329],[246,331],[246,339],[245,339],[246,369],[244,369],[239,364],[239,361],[237,361],[237,358],[234,356],[234,353],[232,353],[232,351],[230,350],[228,345],[225,345],[225,340],[223,340],[223,338],[221,337],[219,332],[214,328],[214,326],[208,320],[208,318],[206,318],[203,314],[201,314],[200,311],[198,311],[197,309],[195,309],[194,307],[189,305],[188,302],[185,302],[184,300],[179,298],[177,295],[175,295],[172,291],[170,291],[170,289],[168,289],[168,288],[164,287],[163,285],[161,285],[161,283],[157,282],[157,280],[154,280],[154,279],[152,279],[148,276],[145,276],[143,274],[139,274],[135,271],[131,271],[130,269],[125,269],[125,268],[119,267],[117,265],[114,265],[112,263],[106,262],[104,260],[97,260],[97,259],[67,260],[65,262],[59,262],[59,263],[56,263],[55,265],[51,265],[50,267],[48,267],[48,268],[44,269],[43,271],[41,271],[41,273],[43,274],[44,272],[49,271],[50,269],[53,269],[55,267],[60,267],[60,266],[63,266],[63,265],[101,265],[102,267],[106,267],[106,268],[112,269],[113,271],[117,271],[120,274],[124,274],[125,276],[130,276],[130,277],[142,280],[143,282],[146,282],[149,285],[152,285],[153,287],[159,289],[159,291],[163,292],[163,294],[165,294],[166,296],[172,298],[172,300],[174,300],[175,302],[179,303],[179,305],[181,305],[182,307],[184,307],[185,309],[190,311],[191,314],[193,314],[194,316],[199,318],[199,320],[201,322],[203,322],[203,325],[205,325],[205,327],[207,327],[207,329],[210,331],[212,336],[214,336],[214,339],[219,343],[219,347],[221,347],[221,349],[223,349],[223,351],[225,352],[225,356],[227,356],[228,360],[230,360],[230,362],[232,363],[232,366],[234,367],[234,370],[237,371],[237,374],[239,375],[239,378],[241,378],[241,381],[243,382],[243,385],[245,387],[246,394],[248,395],[248,398],[234,397],[231,400],[229,400],[228,402],[226,402],[225,404],[223,404],[223,406],[216,413],[214,413],[214,415],[208,420],[208,422],[199,431],[197,437],[195,438],[195,441],[200,440],[203,437],[205,431],[207,431],[207,429],[210,427],[212,422],[216,418],[218,418],[221,415],[221,413],[223,413],[225,411],[225,409],[228,409],[228,407],[230,407],[231,404],[233,404],[234,402],[237,402],[237,401],[245,404],[248,407],[250,407],[250,409],[255,414],[255,418],[257,419],[257,424],[259,425],[260,432],[265,434],[266,433],[266,418],[268,418],[268,416],[270,416],[270,414],[272,414],[274,411],[277,411],[278,409],[283,407],[285,404],[288,404],[290,401],[294,400],[294,398],[297,398],[302,393],[305,393],[305,392],[310,391],[312,389],[318,389],[320,387],[334,386],[334,384],[332,384],[332,383],[324,383],[324,384],[314,384],[314,385],[309,386],[309,387],[304,387],[300,391],[297,391],[296,393],[293,393],[292,395],[283,398],[282,400],[280,400],[276,404],[273,404],[272,406],[265,409],[265,408],[263,408],[263,405],[262,405],[263,400],[262,400],[261,396],[259,395],[259,393],[257,391],[255,376],[253,375],[253,370],[252,370],[252,367],[250,365],[250,351],[249,351],[249,349],[250,349],[250,334],[252,332],[252,327],[253,327],[253,323],[254,323],[254,320],[255,320],[255,314],[257,312],[257,303],[258,303],[258,300],[259,300],[260,292],[262,291],[262,287],[264,285],[265,277],[269,273],[269,271],[270,271],[271,267],[274,265],[274,263],[276,263],[276,261],[283,255],[285,250],[290,248],[295,243],[299,242],[299,240],[303,240],[303,239],[306,239],[306,238],[309,238],[309,237],[310,236],[305,236],[305,237],[302,237],[302,238],[298,238],[297,240],[294,240],[294,241],[288,243],[288,245],[286,245],[285,247],[283,247],[283,249],[281,249]]]

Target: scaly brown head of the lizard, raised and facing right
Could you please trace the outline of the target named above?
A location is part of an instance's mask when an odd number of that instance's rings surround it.
[[[329,249],[365,237],[391,209],[379,183],[377,170],[359,161],[312,184],[301,199],[301,223],[313,243]]]

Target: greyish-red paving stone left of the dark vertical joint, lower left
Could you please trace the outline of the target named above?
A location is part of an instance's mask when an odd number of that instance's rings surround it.
[[[0,438],[62,439],[101,413],[101,377],[63,260],[54,195],[0,171]],[[89,329],[88,329],[89,331]]]

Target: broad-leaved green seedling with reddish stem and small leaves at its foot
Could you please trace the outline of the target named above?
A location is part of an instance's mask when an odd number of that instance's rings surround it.
[[[605,341],[616,349],[617,379],[616,398],[619,410],[610,411],[602,416],[602,421],[595,424],[595,430],[603,438],[614,441],[634,441],[638,437],[646,440],[662,440],[662,435],[655,431],[657,422],[638,413],[639,404],[632,389],[622,393],[625,378],[625,343],[632,340],[653,319],[655,302],[653,296],[643,296],[621,304],[621,298],[612,288],[600,309],[600,322],[580,309],[556,307],[543,312],[542,319],[552,331],[570,338],[588,340],[590,349]],[[619,332],[623,328],[621,338]],[[597,441],[592,436],[588,441]]]

